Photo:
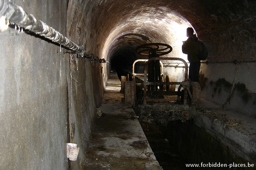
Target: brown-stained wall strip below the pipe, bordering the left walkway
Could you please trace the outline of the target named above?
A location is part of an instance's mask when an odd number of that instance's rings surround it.
[[[101,104],[102,85],[97,79],[100,77],[98,63],[70,56],[72,80],[68,79],[68,101],[71,106],[68,108],[68,140],[78,144],[80,150],[78,159],[69,163],[71,169],[80,169],[97,118],[96,108]]]

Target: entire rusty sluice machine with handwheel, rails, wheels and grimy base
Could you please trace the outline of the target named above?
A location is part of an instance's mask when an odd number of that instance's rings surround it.
[[[189,105],[194,102],[193,85],[188,79],[188,64],[176,57],[160,57],[172,51],[164,43],[148,43],[138,46],[136,52],[148,56],[139,59],[132,65],[132,81],[123,76],[124,101],[132,104],[140,120],[155,120],[166,123],[171,120],[187,120]],[[184,63],[183,81],[177,82],[174,77],[163,74],[163,61],[181,61]],[[143,62],[143,73],[135,72],[135,65]]]

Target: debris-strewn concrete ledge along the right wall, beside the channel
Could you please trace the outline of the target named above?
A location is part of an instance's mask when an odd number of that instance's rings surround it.
[[[190,115],[197,126],[204,127],[236,155],[256,165],[256,119],[220,107],[201,99],[198,106],[190,108]]]

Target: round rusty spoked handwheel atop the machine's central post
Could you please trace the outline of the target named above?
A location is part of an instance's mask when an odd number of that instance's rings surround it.
[[[163,48],[161,46],[163,46]],[[138,46],[135,50],[140,55],[146,56],[152,54],[152,51],[156,51],[156,54],[158,55],[166,55],[172,51],[172,47],[164,43],[148,43]]]

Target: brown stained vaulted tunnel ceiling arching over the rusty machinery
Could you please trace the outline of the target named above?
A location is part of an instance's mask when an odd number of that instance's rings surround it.
[[[209,60],[219,55],[222,58],[235,55],[239,59],[244,50],[234,52],[234,46],[245,48],[251,59],[255,45],[245,44],[255,44],[255,4],[252,0],[72,1],[70,5],[76,9],[72,8],[70,22],[78,23],[78,34],[84,37],[85,50],[112,63],[130,64],[142,58],[134,49],[149,42],[169,44],[173,48],[171,56],[186,58],[180,54],[180,48],[187,39],[188,26],[192,26],[208,46]],[[69,28],[69,34],[77,34],[77,30]],[[221,44],[228,49],[223,51],[225,47]]]

